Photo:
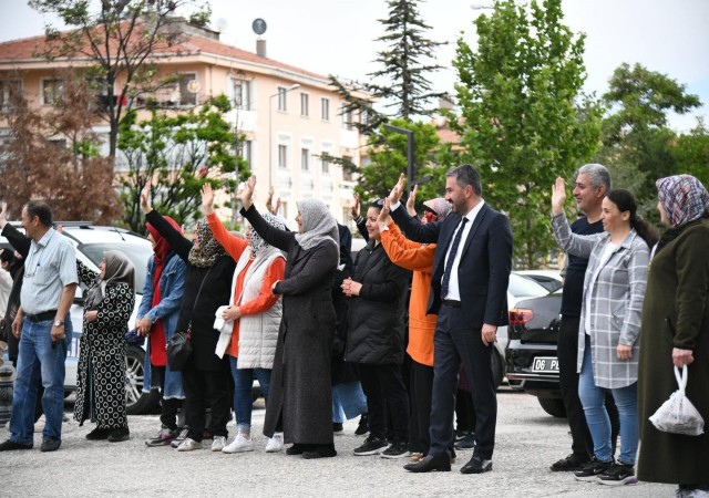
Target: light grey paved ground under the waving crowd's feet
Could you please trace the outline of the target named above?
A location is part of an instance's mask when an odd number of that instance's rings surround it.
[[[451,473],[410,474],[404,459],[356,457],[362,437],[353,435],[357,421],[345,424],[335,439],[336,458],[305,460],[265,454],[264,436],[256,450],[225,455],[209,450],[177,453],[148,448],[143,440],[158,427],[156,416],[131,417],[131,440],[91,443],[92,427],[64,425],[59,452],[35,448],[0,454],[0,496],[10,497],[203,497],[203,496],[480,496],[480,497],[671,497],[674,487],[641,483],[618,488],[578,483],[568,474],[552,473],[552,461],[568,453],[571,438],[564,419],[546,415],[536,398],[502,391],[497,443],[492,473],[462,475],[471,452],[460,452]],[[254,412],[255,433],[264,411]],[[230,428],[233,429],[233,427]],[[0,429],[0,439],[8,432]]]

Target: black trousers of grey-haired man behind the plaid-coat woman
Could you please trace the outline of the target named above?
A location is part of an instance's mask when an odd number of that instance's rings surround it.
[[[594,455],[594,440],[590,437],[584,407],[578,397],[578,373],[576,372],[579,320],[579,317],[562,317],[556,342],[556,356],[558,359],[558,381],[562,398],[566,407],[568,428],[572,432],[572,452],[574,455],[590,458]],[[615,454],[616,442],[620,432],[620,419],[618,417],[618,408],[610,393],[606,393],[606,409],[610,417],[610,442]]]

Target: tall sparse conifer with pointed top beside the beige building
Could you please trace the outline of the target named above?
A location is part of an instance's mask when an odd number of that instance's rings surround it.
[[[445,93],[434,92],[428,75],[440,70],[435,63],[435,49],[442,43],[427,38],[431,29],[419,12],[420,0],[389,0],[389,15],[380,19],[386,33],[377,39],[387,45],[374,62],[379,70],[369,73],[369,83],[342,83],[330,75],[330,83],[345,100],[346,113],[359,114],[352,123],[361,133],[369,134],[390,116],[411,121],[435,112],[432,101]],[[390,113],[377,111],[372,101],[357,94],[363,91],[374,101],[381,101]]]

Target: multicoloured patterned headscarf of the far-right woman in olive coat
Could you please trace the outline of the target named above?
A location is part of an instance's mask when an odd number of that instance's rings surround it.
[[[655,185],[670,228],[701,218],[709,210],[709,193],[691,175],[668,176]]]

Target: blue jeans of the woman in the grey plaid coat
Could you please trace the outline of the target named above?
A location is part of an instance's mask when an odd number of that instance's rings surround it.
[[[610,418],[605,405],[606,392],[610,391],[618,407],[620,417],[620,454],[618,461],[635,465],[638,452],[638,383],[625,387],[606,390],[596,387],[590,362],[590,345],[586,336],[584,363],[578,377],[578,397],[584,405],[586,423],[594,439],[594,455],[600,461],[610,461],[613,450],[610,445]]]

